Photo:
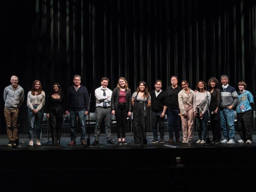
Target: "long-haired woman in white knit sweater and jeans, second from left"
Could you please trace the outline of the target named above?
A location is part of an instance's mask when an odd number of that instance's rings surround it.
[[[41,145],[40,138],[42,134],[42,120],[44,117],[45,93],[39,80],[35,80],[32,84],[32,90],[28,92],[28,136],[29,146],[33,146],[34,126],[36,125],[36,145]]]

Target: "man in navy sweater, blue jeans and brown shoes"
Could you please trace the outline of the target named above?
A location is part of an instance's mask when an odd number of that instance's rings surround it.
[[[89,94],[83,85],[81,85],[81,76],[75,75],[74,85],[68,88],[67,92],[67,111],[70,114],[71,141],[68,145],[76,145],[76,118],[78,117],[78,126],[80,128],[81,144],[86,145],[85,140],[85,115],[88,113]]]

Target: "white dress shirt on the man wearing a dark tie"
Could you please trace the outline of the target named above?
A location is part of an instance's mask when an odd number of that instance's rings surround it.
[[[96,107],[103,107],[103,101],[107,103],[107,107],[110,107],[111,95],[112,91],[106,87],[105,93],[106,96],[103,96],[103,87],[100,86],[99,88],[95,89],[95,97],[96,97]],[[109,96],[109,98],[108,98]]]

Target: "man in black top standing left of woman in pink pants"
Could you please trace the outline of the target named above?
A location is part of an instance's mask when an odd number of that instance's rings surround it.
[[[180,86],[178,86],[178,77],[172,76],[171,77],[171,84],[172,86],[167,87],[166,93],[167,93],[167,102],[168,102],[168,127],[169,127],[169,142],[173,142],[173,131],[175,132],[175,139],[176,142],[181,142],[180,140],[180,126],[179,126],[179,114],[180,114],[180,108],[179,108],[179,101],[178,101],[178,94],[182,90]]]

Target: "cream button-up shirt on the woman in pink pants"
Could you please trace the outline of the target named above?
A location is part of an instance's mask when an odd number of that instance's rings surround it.
[[[193,105],[193,96],[194,96],[194,91],[189,89],[189,93],[187,93],[184,89],[182,89],[179,93],[178,93],[178,101],[179,101],[179,108],[181,111],[181,115],[185,114],[185,108],[184,108],[184,104],[188,104],[189,106]]]

